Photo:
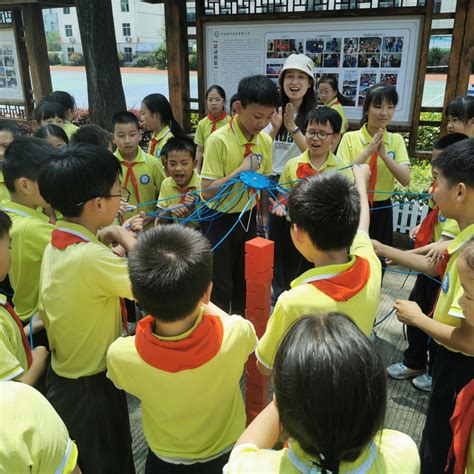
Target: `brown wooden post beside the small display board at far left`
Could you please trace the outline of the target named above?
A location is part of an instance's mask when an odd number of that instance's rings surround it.
[[[36,103],[51,94],[53,86],[49,73],[48,46],[44,33],[41,6],[28,4],[21,7],[25,27],[26,49],[30,65],[33,96]]]

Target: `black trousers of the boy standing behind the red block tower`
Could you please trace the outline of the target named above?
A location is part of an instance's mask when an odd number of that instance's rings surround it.
[[[217,213],[214,220],[203,224],[203,234],[213,247],[220,242],[214,250],[211,301],[226,312],[245,317],[245,242],[257,236],[257,222],[255,209],[237,222],[239,215]]]

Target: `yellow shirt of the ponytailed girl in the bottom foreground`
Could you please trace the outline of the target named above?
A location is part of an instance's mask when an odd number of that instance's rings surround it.
[[[224,474],[320,472],[314,468],[314,458],[307,455],[295,441],[281,450],[259,449],[251,443],[236,446],[230,455]],[[405,433],[383,430],[352,462],[343,462],[339,473],[418,474],[420,457],[414,441]]]

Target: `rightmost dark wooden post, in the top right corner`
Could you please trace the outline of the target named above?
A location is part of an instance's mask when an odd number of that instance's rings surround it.
[[[456,5],[456,16],[454,18],[454,28],[453,28],[453,37],[451,40],[451,51],[449,55],[449,63],[448,63],[448,75],[446,77],[446,89],[444,93],[444,105],[443,110],[446,109],[447,105],[451,100],[453,100],[459,88],[459,83],[464,78],[460,76],[461,69],[461,56],[463,51],[465,51],[465,47],[467,45],[463,45],[466,35],[469,33],[466,32],[466,28],[468,25],[466,23],[468,17],[468,10],[469,10],[469,3],[471,0],[458,0]],[[472,18],[472,15],[471,15]],[[471,26],[472,29],[472,26]],[[469,67],[470,67],[470,59],[469,59]],[[468,76],[469,77],[469,76]],[[467,79],[468,80],[468,79]],[[467,82],[464,88],[463,94],[465,94],[467,89]],[[446,123],[447,117],[443,115],[441,121],[441,136],[446,134]]]

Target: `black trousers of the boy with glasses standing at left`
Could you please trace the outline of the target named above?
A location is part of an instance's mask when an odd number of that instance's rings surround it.
[[[83,474],[134,474],[125,392],[105,374],[68,379],[49,367],[46,398],[77,443]]]

